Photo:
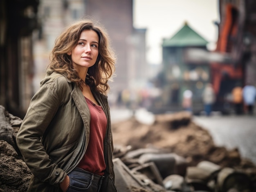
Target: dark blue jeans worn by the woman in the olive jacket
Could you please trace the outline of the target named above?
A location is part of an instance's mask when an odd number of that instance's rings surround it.
[[[67,192],[99,192],[104,176],[75,168],[68,174],[70,186]]]

